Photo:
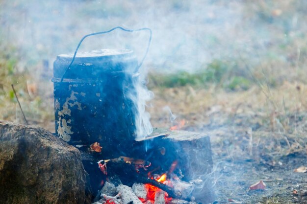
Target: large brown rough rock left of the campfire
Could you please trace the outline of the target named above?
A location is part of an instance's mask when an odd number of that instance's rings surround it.
[[[0,204],[90,204],[80,152],[36,126],[0,122]]]

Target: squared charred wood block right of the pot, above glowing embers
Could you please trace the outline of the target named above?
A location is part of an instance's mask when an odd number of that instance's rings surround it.
[[[151,161],[152,168],[160,166],[158,174],[169,172],[176,160],[177,166],[172,171],[178,176],[182,175],[182,181],[201,181],[190,195],[182,195],[182,198],[193,196],[203,204],[212,203],[214,192],[210,137],[205,133],[183,130],[164,130],[163,134],[163,130],[159,129],[155,132],[159,134],[135,141],[131,155]]]

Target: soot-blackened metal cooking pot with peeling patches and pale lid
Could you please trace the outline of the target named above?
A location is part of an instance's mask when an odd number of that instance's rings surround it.
[[[54,62],[55,132],[70,144],[112,143],[135,137],[137,59],[132,50],[58,55]]]

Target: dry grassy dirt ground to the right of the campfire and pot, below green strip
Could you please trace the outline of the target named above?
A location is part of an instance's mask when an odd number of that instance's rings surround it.
[[[297,86],[286,83],[270,90],[271,101],[256,87],[240,92],[192,87],[154,90],[153,125],[171,126],[184,119],[182,129],[210,136],[218,203],[228,199],[242,204],[307,203],[306,174],[293,172],[307,162],[307,114],[303,107],[298,109],[302,101],[295,98],[302,90]],[[286,104],[279,107],[283,100]],[[173,123],[163,106],[177,114]],[[260,180],[266,183],[265,190],[248,191]]]

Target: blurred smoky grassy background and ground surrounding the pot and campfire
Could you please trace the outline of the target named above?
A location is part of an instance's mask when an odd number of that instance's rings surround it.
[[[153,126],[208,133],[217,194],[256,203],[247,181],[291,177],[294,164],[281,156],[306,160],[306,19],[306,0],[0,0],[0,120],[25,123],[13,84],[29,123],[54,132],[56,56],[92,32],[149,27],[141,70],[155,95]],[[140,60],[148,38],[116,30],[80,51],[130,48]],[[281,166],[288,171],[274,175]],[[281,181],[265,194],[288,189]]]

